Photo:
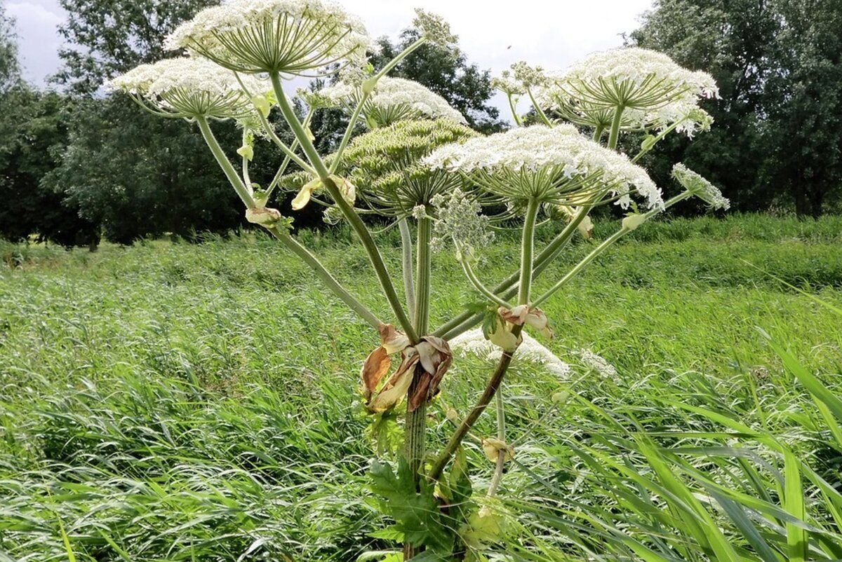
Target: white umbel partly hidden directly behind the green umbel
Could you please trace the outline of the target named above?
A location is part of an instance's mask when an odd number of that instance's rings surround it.
[[[339,82],[324,87],[317,98],[333,107],[353,109],[362,95],[360,87]],[[402,119],[450,119],[465,125],[465,116],[450,107],[445,98],[413,80],[382,77],[362,109],[372,127],[392,125]]]

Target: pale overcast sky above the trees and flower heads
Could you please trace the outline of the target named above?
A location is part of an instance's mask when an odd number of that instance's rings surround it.
[[[493,73],[516,61],[561,69],[594,50],[621,45],[652,0],[340,0],[374,36],[397,36],[413,8],[440,13],[459,35],[468,60]],[[3,0],[0,0],[3,2]],[[60,62],[56,26],[64,19],[56,0],[6,0],[17,19],[24,76],[44,83]],[[505,115],[505,112],[503,112]]]

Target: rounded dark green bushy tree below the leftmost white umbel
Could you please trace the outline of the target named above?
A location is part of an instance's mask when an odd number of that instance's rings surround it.
[[[73,114],[61,163],[45,183],[102,225],[109,241],[191,237],[241,223],[237,196],[193,125],[145,114],[123,96],[80,100]],[[233,125],[222,132],[227,146],[239,146]]]

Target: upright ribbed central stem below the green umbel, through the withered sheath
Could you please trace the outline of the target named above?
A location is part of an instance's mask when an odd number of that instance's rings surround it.
[[[432,220],[422,217],[418,219],[418,233],[416,236],[416,268],[415,268],[415,315],[413,326],[416,333],[424,335],[429,328],[429,296],[430,273],[432,256],[429,249],[429,239],[432,236]],[[424,376],[424,368],[420,363],[415,367],[413,382],[409,386],[409,396],[417,392],[418,384]],[[404,435],[404,454],[412,470],[415,485],[421,479],[421,467],[424,453],[427,450],[427,400],[421,400],[414,411],[407,412],[406,429]],[[403,559],[413,558],[418,551],[411,544],[403,545]]]

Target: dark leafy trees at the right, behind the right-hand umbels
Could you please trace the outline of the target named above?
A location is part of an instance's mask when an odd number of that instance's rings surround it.
[[[710,132],[664,140],[643,161],[658,183],[672,162],[701,172],[741,210],[795,204],[818,216],[842,186],[839,0],[658,0],[631,34],[717,80]],[[636,143],[637,140],[628,140]]]

